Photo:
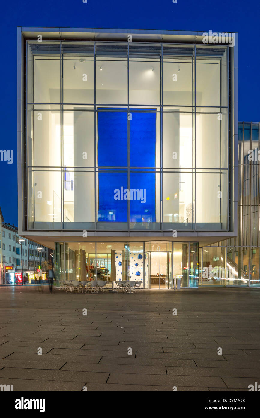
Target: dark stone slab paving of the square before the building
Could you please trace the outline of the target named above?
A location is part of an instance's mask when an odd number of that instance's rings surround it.
[[[259,319],[260,289],[50,294],[2,286],[0,384],[248,391],[260,383]]]

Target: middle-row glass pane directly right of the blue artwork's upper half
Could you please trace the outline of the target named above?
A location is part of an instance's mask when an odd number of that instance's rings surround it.
[[[192,157],[192,114],[163,112],[163,167],[192,168]]]

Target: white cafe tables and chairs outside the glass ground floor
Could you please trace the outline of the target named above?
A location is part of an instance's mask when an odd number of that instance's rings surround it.
[[[76,293],[97,293],[97,292],[108,292],[108,283],[111,283],[107,280],[85,280],[85,281],[78,281],[78,280],[61,280],[60,281],[60,290],[64,290],[65,292],[76,292]],[[116,288],[115,291],[124,292],[124,293],[138,293],[140,292],[140,285],[142,281],[130,281],[130,280],[120,280],[116,281]]]

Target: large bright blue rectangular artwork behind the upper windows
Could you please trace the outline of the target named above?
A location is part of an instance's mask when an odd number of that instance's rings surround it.
[[[100,112],[98,109],[98,166],[127,166],[127,112]],[[154,110],[154,109],[153,109]],[[130,109],[131,112],[131,109]],[[130,166],[155,167],[156,112],[132,113],[130,120]],[[130,222],[156,222],[155,173],[98,172],[98,215],[100,222],[127,222],[130,199]],[[115,199],[115,190],[120,191]],[[133,189],[133,193],[132,193]]]

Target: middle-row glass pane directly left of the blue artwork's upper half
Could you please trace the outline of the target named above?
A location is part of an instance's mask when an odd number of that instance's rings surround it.
[[[95,166],[94,112],[63,112],[63,166]]]

